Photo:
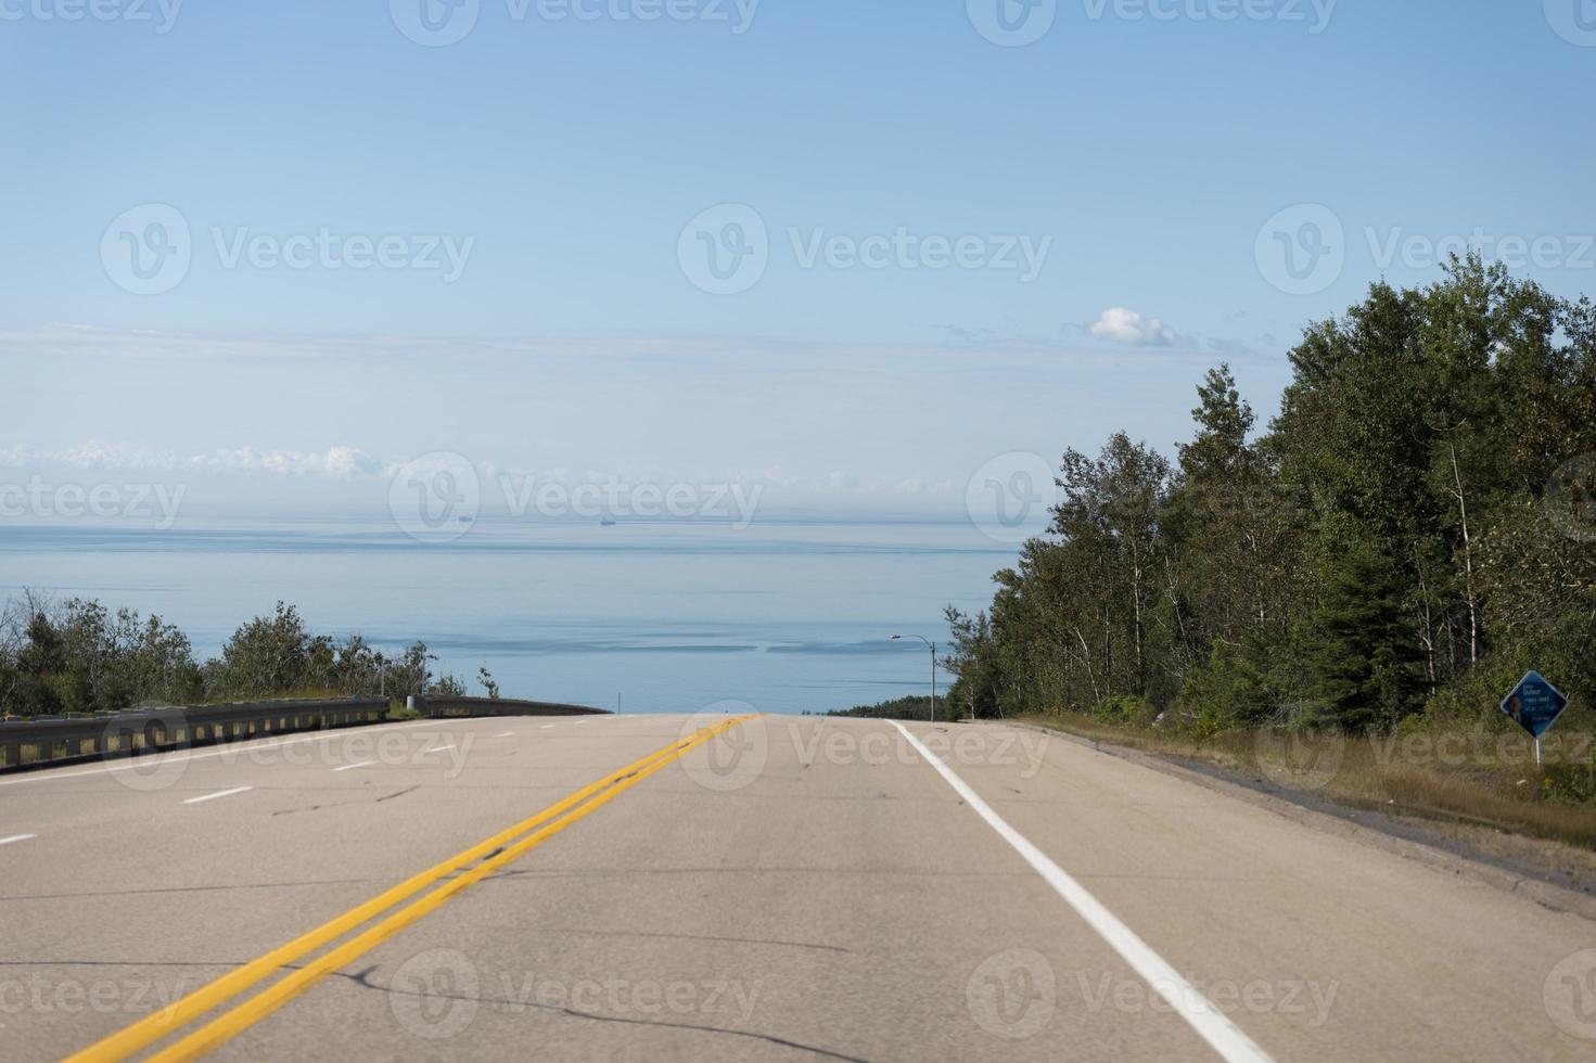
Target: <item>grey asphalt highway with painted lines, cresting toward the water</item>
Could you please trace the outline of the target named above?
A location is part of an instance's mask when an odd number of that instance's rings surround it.
[[[0,1057],[1596,1058],[1583,918],[1041,733],[728,723],[0,776]]]

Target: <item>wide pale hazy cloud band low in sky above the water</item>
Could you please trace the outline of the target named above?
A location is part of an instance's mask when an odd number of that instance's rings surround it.
[[[1136,426],[1191,409],[1199,364],[1171,366],[1133,396],[1119,381],[1127,358],[1202,356],[1203,340],[1128,310],[1092,322],[913,343],[0,326],[0,366],[32,396],[0,429],[0,480],[18,479],[13,469],[80,480],[77,469],[101,468],[107,479],[179,477],[230,500],[381,503],[388,479],[418,452],[448,450],[492,495],[501,476],[517,492],[533,477],[576,485],[613,476],[764,487],[772,504],[816,512],[879,503],[958,514],[972,452],[1088,447],[1117,428],[1151,434]],[[172,394],[193,417],[152,423],[147,410]],[[381,401],[351,404],[351,394]],[[594,394],[605,396],[602,417]],[[1058,425],[1060,394],[1076,402],[1068,428]],[[969,421],[972,402],[1004,417]],[[394,409],[466,413],[413,421]],[[926,434],[926,423],[962,429]],[[101,442],[75,445],[85,439]]]

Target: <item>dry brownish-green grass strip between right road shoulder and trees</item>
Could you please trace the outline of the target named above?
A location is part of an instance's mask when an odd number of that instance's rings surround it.
[[[1390,737],[1227,731],[1191,737],[1077,713],[1026,723],[1160,757],[1213,765],[1285,790],[1417,819],[1465,824],[1596,851],[1596,734],[1548,736],[1545,765],[1523,734],[1435,728]]]

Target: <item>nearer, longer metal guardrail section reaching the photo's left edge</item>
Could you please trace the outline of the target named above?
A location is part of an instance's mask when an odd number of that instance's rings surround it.
[[[254,701],[0,721],[0,769],[381,723],[388,699]],[[24,760],[24,750],[34,755]],[[57,752],[59,750],[59,752]]]

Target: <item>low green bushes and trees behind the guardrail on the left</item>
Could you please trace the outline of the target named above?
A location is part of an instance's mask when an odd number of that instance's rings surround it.
[[[0,608],[0,718],[286,694],[464,694],[461,680],[431,672],[436,659],[421,642],[389,654],[361,635],[316,635],[278,602],[200,661],[188,635],[160,616],[24,592]],[[498,696],[485,667],[480,682]]]

